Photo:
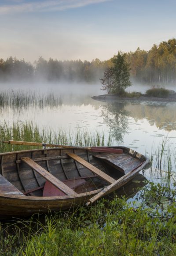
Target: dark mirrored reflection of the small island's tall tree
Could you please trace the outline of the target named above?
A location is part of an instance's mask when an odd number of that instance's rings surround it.
[[[125,105],[125,103],[108,102],[102,108],[103,120],[110,128],[110,134],[117,143],[123,143],[124,135],[128,131],[130,112],[125,109]]]

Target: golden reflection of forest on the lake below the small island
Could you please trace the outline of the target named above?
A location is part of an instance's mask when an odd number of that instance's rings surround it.
[[[118,102],[107,102],[107,105],[103,106],[103,112],[106,112],[106,110],[104,111],[106,108],[111,113],[119,113],[122,122],[124,117],[132,117],[136,121],[147,119],[151,126],[156,125],[157,128],[168,132],[176,130],[176,102],[119,100]]]

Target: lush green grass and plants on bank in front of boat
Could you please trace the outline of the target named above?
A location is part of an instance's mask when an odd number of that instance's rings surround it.
[[[74,212],[1,224],[1,255],[176,255],[176,192],[148,184],[133,203],[115,197]],[[4,229],[4,230],[3,230]]]

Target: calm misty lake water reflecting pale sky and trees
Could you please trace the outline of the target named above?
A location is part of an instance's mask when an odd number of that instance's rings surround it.
[[[87,128],[91,132],[98,130],[104,132],[105,140],[110,134],[113,145],[124,145],[148,156],[157,155],[163,141],[167,141],[165,150],[175,152],[176,102],[95,101],[92,96],[104,93],[100,85],[63,83],[15,87],[1,86],[1,92],[8,91],[12,95],[23,91],[28,95],[35,94],[38,101],[34,102],[31,96],[27,104],[13,105],[11,102],[1,106],[1,123],[32,121],[41,129],[55,132],[60,128],[66,132],[77,128]],[[145,89],[139,88],[142,92]],[[172,165],[175,171],[174,161]]]

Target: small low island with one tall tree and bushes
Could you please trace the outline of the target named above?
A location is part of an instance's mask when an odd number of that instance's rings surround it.
[[[145,94],[140,92],[127,92],[125,89],[132,86],[130,81],[130,65],[126,60],[126,53],[119,51],[111,58],[112,66],[106,68],[102,82],[102,90],[107,94],[93,96],[99,101],[124,100],[152,100],[152,101],[176,101],[176,92],[164,87],[154,86],[147,90]]]

